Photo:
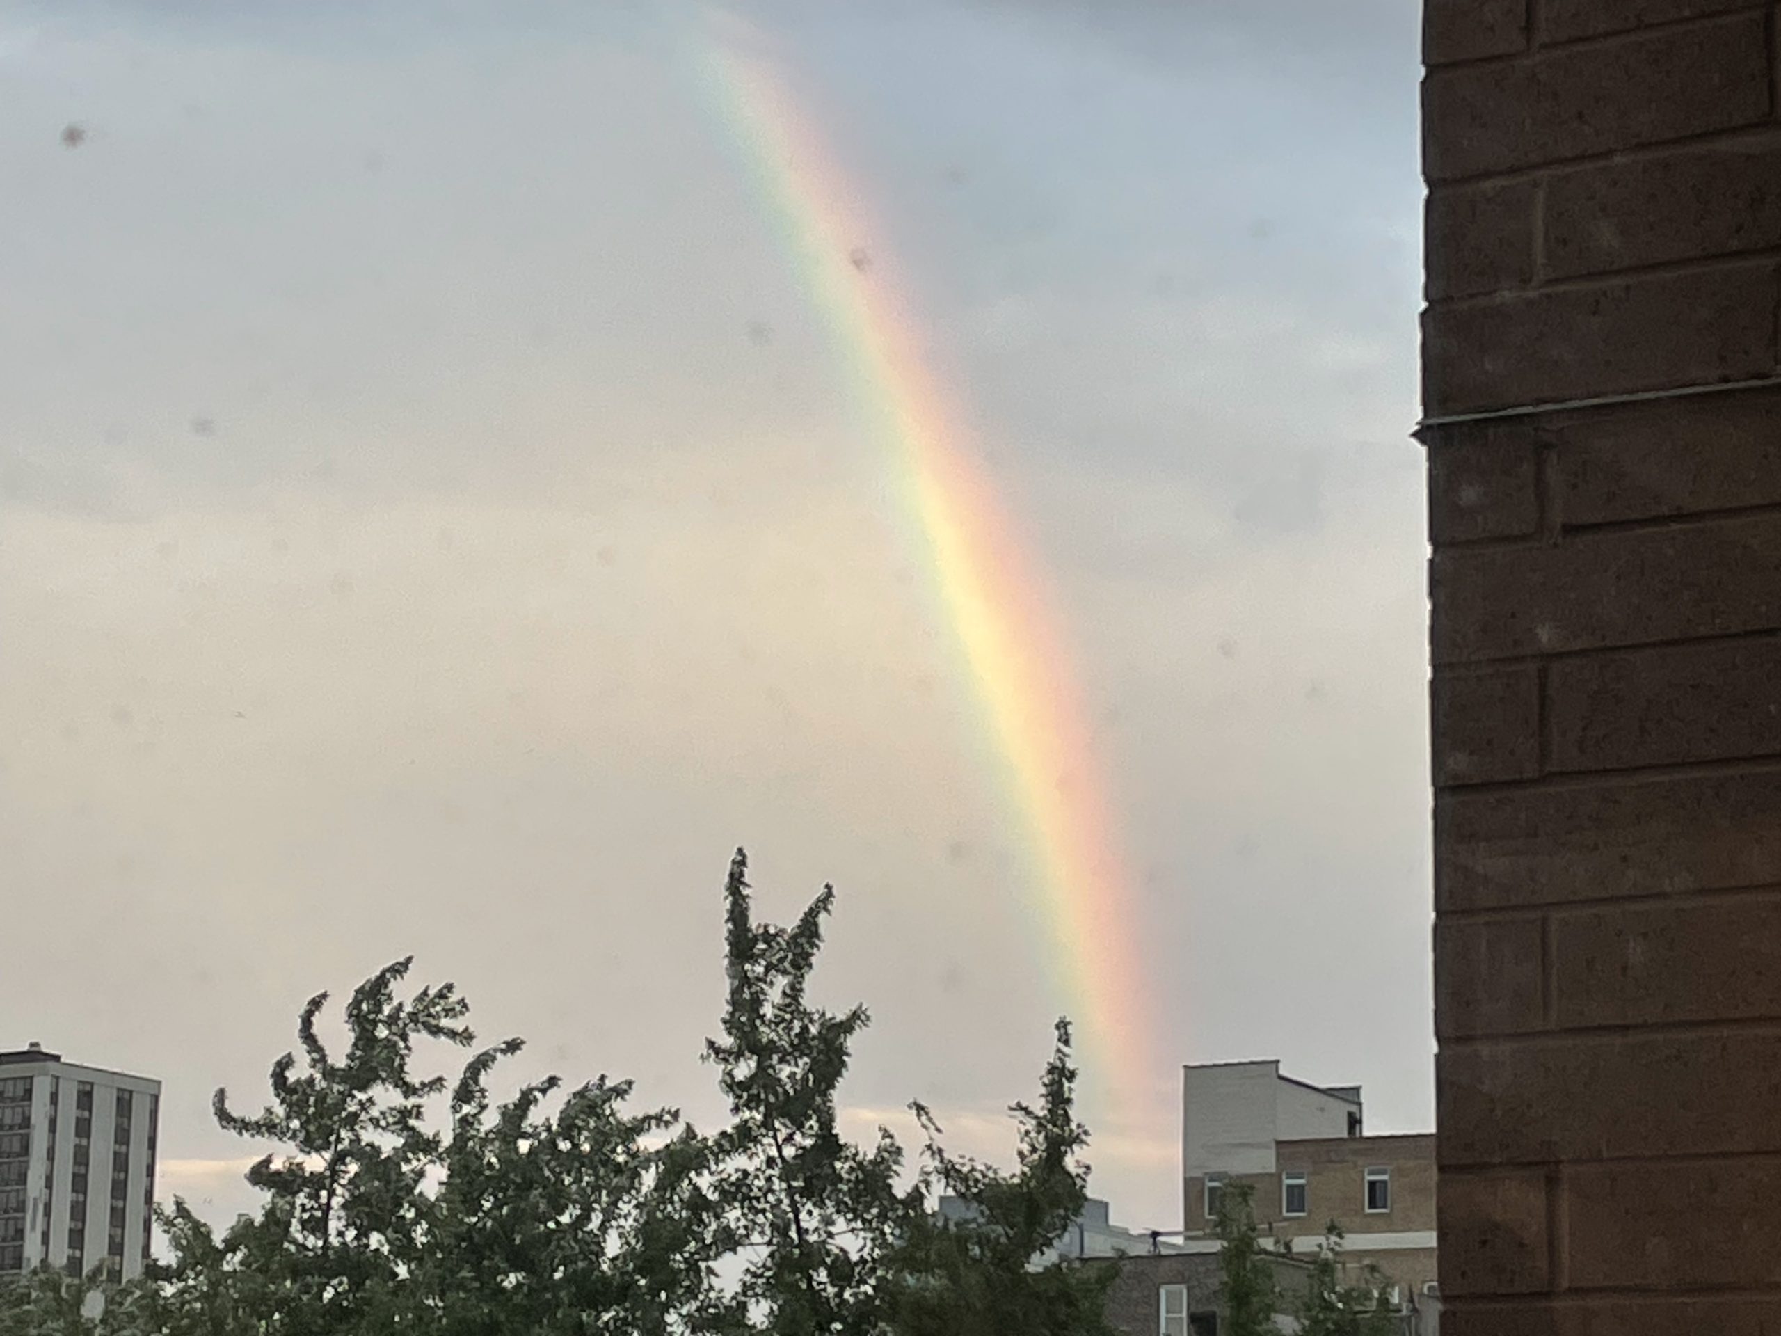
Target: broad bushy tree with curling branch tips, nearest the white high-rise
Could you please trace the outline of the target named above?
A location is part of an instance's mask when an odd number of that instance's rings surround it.
[[[317,1035],[326,994],[303,1008],[306,1069],[272,1067],[272,1103],[219,1122],[280,1154],[248,1181],[255,1217],[221,1240],[183,1202],[164,1215],[175,1254],[155,1306],[169,1336],[383,1336],[427,1331],[657,1336],[698,1331],[711,1299],[714,1206],[705,1142],[671,1110],[632,1115],[627,1081],[598,1078],[549,1112],[556,1078],[492,1104],[506,1040],[470,1058],[445,1131],[445,1078],[415,1076],[417,1042],[474,1044],[451,985],[395,996],[408,960],[346,1008],[335,1060]]]

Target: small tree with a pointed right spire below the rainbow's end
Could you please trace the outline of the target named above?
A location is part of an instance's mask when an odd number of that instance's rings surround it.
[[[921,1104],[928,1131],[928,1177],[965,1204],[958,1220],[921,1217],[898,1252],[892,1291],[898,1336],[1113,1336],[1104,1316],[1113,1267],[1051,1259],[1088,1199],[1081,1151],[1088,1129],[1076,1119],[1070,1026],[1058,1021],[1056,1046],[1040,1083],[1038,1108],[1019,1103],[1013,1174],[946,1153],[940,1128]]]

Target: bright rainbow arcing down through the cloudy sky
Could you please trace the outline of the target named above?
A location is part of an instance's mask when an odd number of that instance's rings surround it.
[[[1167,1072],[1152,1060],[1131,880],[1067,639],[924,354],[883,232],[753,30],[728,16],[723,25],[700,43],[703,93],[832,331],[866,424],[894,460],[1026,825],[1035,907],[1088,1088],[1136,1113]]]

